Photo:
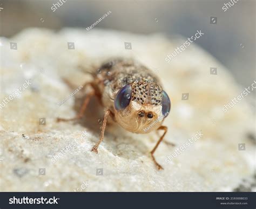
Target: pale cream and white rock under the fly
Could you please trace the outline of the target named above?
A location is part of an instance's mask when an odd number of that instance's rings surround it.
[[[10,49],[10,42],[17,43],[17,50]],[[75,49],[68,49],[68,42]],[[124,42],[131,42],[132,50],[125,50]],[[27,29],[10,39],[2,37],[0,104],[29,79],[31,85],[0,108],[0,190],[233,191],[244,179],[252,179],[251,95],[225,113],[223,106],[244,89],[195,43],[167,63],[166,55],[183,43],[182,38],[169,40],[160,34],[97,29]],[[83,71],[117,56],[135,58],[151,68],[172,100],[164,122],[169,127],[166,143],[155,154],[162,171],[156,170],[149,154],[160,133],[133,134],[109,125],[98,154],[91,152],[102,122],[103,108],[97,100],[83,120],[56,123],[57,117],[76,115],[85,92],[58,104],[91,79]],[[210,67],[217,67],[218,75],[211,75]],[[189,93],[188,100],[181,100],[183,93]],[[203,136],[177,154],[177,147],[197,132]],[[245,151],[238,150],[239,143],[246,145]],[[167,156],[174,153],[177,157],[169,162]]]

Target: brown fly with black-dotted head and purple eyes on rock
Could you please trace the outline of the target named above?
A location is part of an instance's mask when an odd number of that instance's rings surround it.
[[[112,118],[123,129],[132,133],[163,130],[164,133],[150,152],[157,168],[163,169],[154,158],[154,152],[167,132],[167,127],[162,124],[170,112],[171,101],[159,78],[148,68],[131,59],[107,62],[92,72],[92,76],[93,81],[83,86],[91,86],[91,91],[86,95],[77,116],[71,119],[57,118],[57,121],[82,118],[90,99],[96,96],[104,107],[104,119],[99,140],[91,151],[98,153],[108,118]]]

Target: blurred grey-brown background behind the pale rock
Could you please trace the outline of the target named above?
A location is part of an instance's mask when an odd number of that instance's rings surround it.
[[[53,12],[53,4],[61,6]],[[255,79],[255,1],[0,0],[0,8],[4,37],[29,27],[86,30],[109,10],[96,28],[164,33],[169,38],[187,38],[201,30],[205,35],[196,43],[224,64],[238,83],[247,87]],[[210,17],[217,17],[217,24],[210,24]]]

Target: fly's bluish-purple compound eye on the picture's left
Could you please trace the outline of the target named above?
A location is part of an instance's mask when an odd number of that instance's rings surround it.
[[[117,92],[116,99],[114,99],[114,108],[119,110],[124,110],[130,104],[132,97],[132,87],[131,85],[126,85]]]

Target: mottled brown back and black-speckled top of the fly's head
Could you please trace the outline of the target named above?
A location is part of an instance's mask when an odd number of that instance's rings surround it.
[[[102,65],[100,75],[105,87],[117,92],[132,84],[132,100],[139,104],[161,104],[162,87],[153,72],[131,59],[111,60]]]

